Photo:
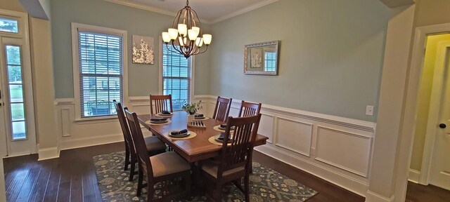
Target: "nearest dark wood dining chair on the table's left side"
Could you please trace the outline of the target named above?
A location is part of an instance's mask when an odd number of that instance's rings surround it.
[[[155,156],[148,156],[146,152],[146,144],[143,143],[143,136],[141,125],[136,113],[131,113],[128,109],[125,109],[125,115],[127,116],[128,123],[131,129],[131,136],[133,137],[134,145],[136,146],[138,165],[139,165],[139,180],[137,188],[137,196],[141,196],[141,191],[147,186],[147,201],[169,201],[172,198],[182,196],[184,194],[190,195],[191,193],[191,165],[185,161],[181,156],[175,152],[165,152],[157,154]],[[143,184],[143,177],[146,177],[147,184]],[[174,194],[168,192],[169,185],[168,180],[177,180],[179,178],[184,179],[185,189],[184,191],[176,191]],[[153,186],[157,182],[162,182],[162,198],[154,199]],[[172,191],[171,191],[172,192]]]

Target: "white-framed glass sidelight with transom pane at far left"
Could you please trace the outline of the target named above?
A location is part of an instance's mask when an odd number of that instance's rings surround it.
[[[26,13],[0,13],[0,154],[37,152]]]

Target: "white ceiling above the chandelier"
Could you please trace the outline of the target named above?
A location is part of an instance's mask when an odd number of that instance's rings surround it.
[[[105,0],[116,4],[146,9],[167,15],[176,15],[186,6],[186,0]],[[189,0],[189,6],[205,23],[214,23],[252,11],[278,0]]]

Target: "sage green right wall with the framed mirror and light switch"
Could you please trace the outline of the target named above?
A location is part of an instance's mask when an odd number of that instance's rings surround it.
[[[212,25],[212,95],[364,121],[377,111],[390,9],[379,0],[280,0]],[[244,45],[281,40],[278,76],[243,74]]]

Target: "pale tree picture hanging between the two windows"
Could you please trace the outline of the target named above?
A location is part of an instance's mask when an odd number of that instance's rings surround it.
[[[133,63],[153,65],[153,37],[133,35]]]

